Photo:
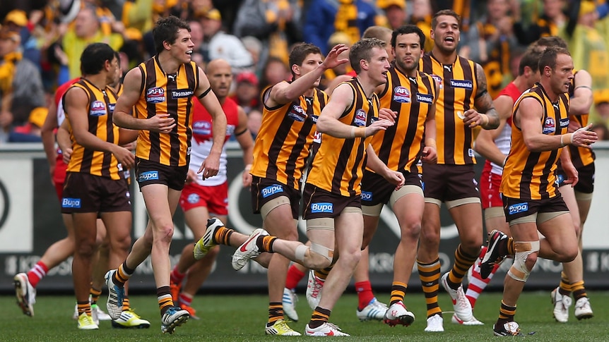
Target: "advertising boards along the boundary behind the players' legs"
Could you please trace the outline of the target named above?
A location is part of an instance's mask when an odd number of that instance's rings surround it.
[[[258,214],[252,214],[249,189],[242,188],[241,173],[243,161],[238,145],[228,148],[229,178],[229,219],[227,226],[241,233],[249,234],[261,226]],[[603,175],[609,170],[609,143],[595,145],[596,173]],[[483,159],[478,158],[476,170],[480,174]],[[134,207],[133,239],[141,236],[146,228],[147,214],[141,193],[137,186],[131,190]],[[609,238],[605,210],[609,208],[609,178],[596,177],[594,197],[588,221],[584,227],[584,279],[586,288],[607,288],[609,283]],[[305,224],[300,221],[300,238],[306,239]],[[484,236],[484,232],[480,232]],[[385,207],[381,214],[380,226],[370,245],[369,264],[372,286],[377,291],[389,291],[393,277],[394,252],[399,240],[399,227],[391,209]],[[49,245],[66,236],[66,228],[61,220],[60,203],[55,195],[49,176],[49,167],[40,144],[0,145],[0,291],[13,291],[13,276],[28,271],[40,259]],[[439,257],[442,272],[448,271],[454,259],[454,250],[459,244],[459,235],[447,210],[442,208],[442,242]],[[486,238],[484,239],[486,240]],[[193,241],[190,229],[184,224],[182,212],[175,216],[175,234],[170,257],[172,264],[188,243]],[[232,248],[223,246],[213,267],[213,271],[203,291],[240,291],[251,289],[263,291],[266,288],[266,269],[256,262],[249,262],[240,271],[230,266]],[[509,268],[509,260],[504,262],[498,276],[490,286],[502,287],[501,280]],[[560,281],[562,265],[540,259],[536,264],[526,288],[552,288]],[[135,291],[153,291],[155,288],[150,258],[138,267],[130,288]],[[299,286],[305,288],[306,277]],[[71,258],[49,271],[37,286],[38,291],[71,291]],[[408,288],[420,289],[416,267]]]

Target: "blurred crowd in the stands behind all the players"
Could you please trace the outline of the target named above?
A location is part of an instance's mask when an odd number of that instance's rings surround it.
[[[462,17],[459,54],[483,66],[495,97],[519,58],[539,37],[569,44],[576,69],[593,77],[591,122],[609,138],[609,4],[606,0],[0,0],[0,143],[40,141],[54,90],[80,75],[92,42],[120,51],[124,71],[154,54],[151,28],[160,17],[188,20],[193,60],[203,68],[225,59],[235,73],[232,97],[249,130],[261,122],[261,91],[291,78],[290,45],[312,42],[326,53],[353,44],[370,26],[418,25],[430,50],[433,13]],[[348,67],[328,71],[322,86]]]

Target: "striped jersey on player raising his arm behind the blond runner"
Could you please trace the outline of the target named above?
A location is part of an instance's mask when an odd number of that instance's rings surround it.
[[[270,92],[269,87],[263,97]],[[313,97],[301,96],[273,108],[265,105],[250,173],[300,189],[302,171],[317,131],[315,124],[326,102],[328,95],[315,89]]]

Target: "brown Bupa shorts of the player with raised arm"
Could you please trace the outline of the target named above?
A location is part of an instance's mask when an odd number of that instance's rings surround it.
[[[292,217],[298,219],[298,212],[300,212],[299,190],[272,179],[256,176],[252,176],[252,185],[249,189],[250,193],[252,193],[252,210],[254,210],[254,214],[260,214],[260,209],[267,202],[277,197],[285,196],[290,200]]]

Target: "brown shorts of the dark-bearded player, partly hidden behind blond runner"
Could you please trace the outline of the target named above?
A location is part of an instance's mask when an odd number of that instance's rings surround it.
[[[422,188],[420,175],[403,171],[406,183],[404,185],[415,185]],[[389,183],[383,176],[372,171],[364,171],[362,178],[362,205],[373,206],[389,203],[389,197],[396,191],[396,185]]]

